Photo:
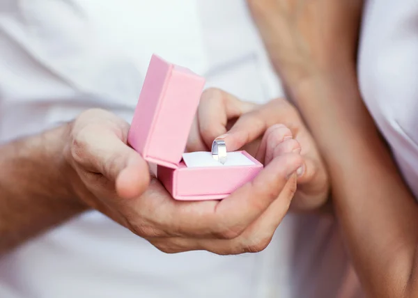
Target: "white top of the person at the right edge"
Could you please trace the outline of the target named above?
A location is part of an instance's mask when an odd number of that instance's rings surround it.
[[[369,0],[359,81],[369,111],[418,198],[418,3]]]

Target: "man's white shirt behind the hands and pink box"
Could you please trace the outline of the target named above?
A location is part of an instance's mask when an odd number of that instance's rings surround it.
[[[89,107],[130,121],[153,53],[242,100],[283,95],[243,0],[2,0],[1,141]],[[3,257],[0,297],[334,298],[342,247],[332,220],[286,217],[261,253],[169,255],[88,212]]]

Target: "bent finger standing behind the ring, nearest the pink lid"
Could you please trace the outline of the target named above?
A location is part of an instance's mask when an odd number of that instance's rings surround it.
[[[213,140],[226,132],[228,121],[254,109],[256,104],[242,102],[222,90],[210,88],[201,96],[198,109],[199,130],[208,148]]]

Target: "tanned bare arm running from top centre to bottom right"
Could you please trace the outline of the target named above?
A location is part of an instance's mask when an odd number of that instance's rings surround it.
[[[418,297],[418,204],[357,86],[362,0],[247,1],[323,153],[336,215],[366,292]]]

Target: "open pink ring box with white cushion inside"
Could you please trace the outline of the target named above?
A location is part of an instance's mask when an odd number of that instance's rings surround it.
[[[210,152],[185,153],[204,86],[203,77],[153,55],[128,135],[130,146],[157,164],[157,178],[177,200],[226,198],[263,168],[245,151],[228,152],[225,164]]]

